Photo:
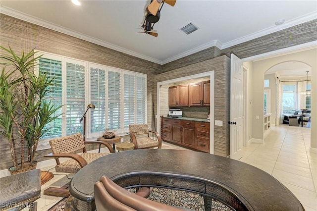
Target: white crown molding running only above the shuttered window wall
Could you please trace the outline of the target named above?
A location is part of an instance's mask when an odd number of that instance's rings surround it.
[[[8,7],[5,7],[5,6],[1,6],[0,7],[0,13],[3,13],[5,15],[8,15],[8,16],[11,16],[11,17],[23,20],[23,21],[27,21],[27,22],[30,22],[30,23],[33,23],[33,24],[36,24],[36,25],[39,25],[39,26],[42,26],[42,27],[45,27],[45,28],[48,28],[48,29],[52,29],[54,31],[57,31],[57,32],[60,32],[60,33],[63,33],[63,34],[66,34],[66,35],[69,35],[69,36],[72,36],[72,37],[76,37],[76,38],[79,38],[81,40],[85,40],[85,41],[88,41],[88,42],[91,42],[91,43],[95,43],[97,45],[100,45],[100,46],[103,46],[103,47],[106,47],[106,48],[109,48],[109,49],[112,49],[112,50],[115,50],[115,51],[118,51],[118,52],[121,52],[121,53],[126,53],[126,54],[129,54],[129,55],[138,57],[138,58],[142,58],[144,60],[148,60],[148,61],[151,61],[151,62],[154,62],[154,63],[158,63],[158,64],[162,63],[162,61],[160,61],[158,59],[155,59],[155,58],[152,58],[150,56],[146,56],[146,55],[143,55],[141,53],[136,53],[136,52],[130,51],[128,49],[121,48],[119,46],[116,46],[116,45],[104,42],[102,40],[90,37],[88,35],[85,35],[85,34],[82,34],[82,33],[67,29],[65,27],[61,27],[59,25],[53,24],[53,23],[48,22],[48,21],[44,21],[44,20],[36,18],[34,16],[27,15],[25,13],[21,13],[19,11],[16,11],[14,9],[11,9],[11,8],[8,8]]]

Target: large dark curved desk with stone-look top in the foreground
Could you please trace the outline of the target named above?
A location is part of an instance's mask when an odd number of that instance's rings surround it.
[[[121,187],[162,187],[211,198],[233,210],[303,211],[278,180],[252,165],[207,153],[143,149],[112,153],[84,166],[70,182],[73,207],[96,209],[94,184],[106,175]],[[207,207],[206,207],[207,206]]]

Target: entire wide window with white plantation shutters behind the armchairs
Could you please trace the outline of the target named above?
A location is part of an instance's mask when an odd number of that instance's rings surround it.
[[[62,113],[43,139],[83,133],[83,117],[89,104],[95,109],[86,113],[86,139],[96,140],[106,129],[116,134],[129,130],[130,124],[147,121],[147,76],[132,71],[72,59],[51,53],[43,54],[38,71],[54,78],[52,97],[63,105]],[[48,145],[48,143],[47,143]]]

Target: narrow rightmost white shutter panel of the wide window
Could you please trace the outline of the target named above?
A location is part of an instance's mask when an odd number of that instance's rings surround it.
[[[146,123],[147,84],[145,76],[137,75],[136,83],[136,124]]]

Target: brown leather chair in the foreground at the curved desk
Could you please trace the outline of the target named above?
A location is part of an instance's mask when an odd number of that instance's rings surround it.
[[[176,207],[151,201],[144,198],[150,193],[141,188],[136,194],[115,184],[106,176],[102,176],[94,185],[97,211],[182,211]]]

